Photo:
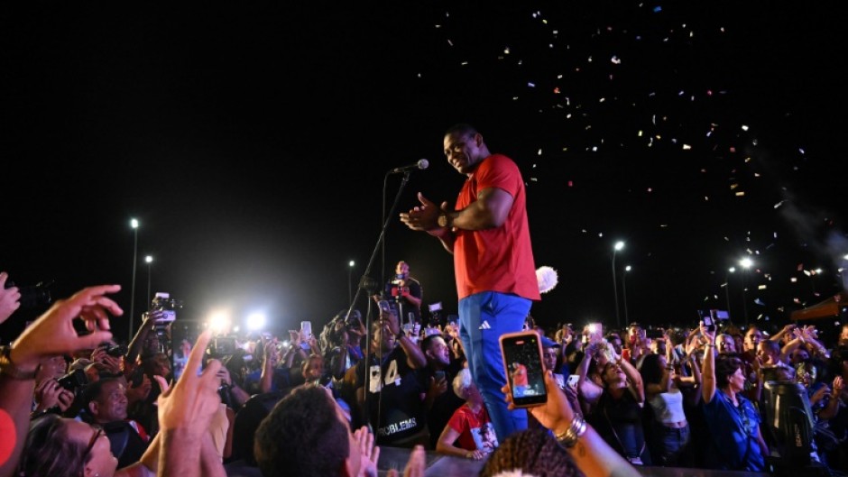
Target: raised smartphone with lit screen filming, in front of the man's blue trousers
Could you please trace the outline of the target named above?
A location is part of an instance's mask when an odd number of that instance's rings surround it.
[[[501,335],[500,343],[512,404],[516,408],[530,408],[547,402],[539,334],[535,331],[506,333]]]

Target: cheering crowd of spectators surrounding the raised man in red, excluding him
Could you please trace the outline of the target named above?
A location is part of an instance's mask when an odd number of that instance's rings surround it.
[[[742,332],[702,322],[649,337],[638,324],[602,334],[600,324],[545,329],[528,316],[524,327],[539,333],[550,396],[525,411],[502,389],[511,411],[527,413],[528,426],[500,438],[456,322],[408,335],[390,310],[366,333],[362,316],[343,310],[309,346],[296,332],[288,343],[256,334],[228,355],[214,353],[215,337],[206,332],[186,365],[202,372],[172,381],[172,356],[151,325],[156,312],[127,346],[109,333],[109,316],[121,315],[108,298],[117,289],[91,287],[56,302],[4,348],[3,475],[185,475],[187,466],[188,475],[225,475],[229,463],[266,476],[326,465],[375,475],[380,446],[413,450],[413,463],[425,450],[484,460],[482,474],[495,462],[521,463],[528,472],[567,462],[562,474],[577,475],[610,475],[614,466],[638,472],[641,465],[846,469],[848,325],[828,347],[815,326],[768,335],[756,326]],[[3,289],[0,304],[14,292]],[[76,318],[89,334],[72,326]],[[769,425],[777,384],[801,390],[797,402],[810,413],[812,434],[800,457]],[[591,449],[593,460],[563,445],[569,438]],[[519,443],[537,441],[549,447],[545,459],[516,455]],[[337,459],[327,458],[336,447]],[[197,449],[190,464],[187,448]]]

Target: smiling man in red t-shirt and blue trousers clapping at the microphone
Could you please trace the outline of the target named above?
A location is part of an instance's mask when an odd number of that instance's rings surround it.
[[[459,335],[502,441],[527,427],[527,413],[510,411],[503,399],[498,338],[521,331],[532,301],[540,299],[524,180],[515,162],[491,153],[469,124],[451,126],[444,146],[447,161],[467,177],[456,205],[438,206],[419,193],[420,205],[401,214],[401,222],[437,237],[454,254]]]

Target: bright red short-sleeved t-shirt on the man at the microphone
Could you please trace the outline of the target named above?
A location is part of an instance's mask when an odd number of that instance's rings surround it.
[[[500,227],[455,230],[454,269],[458,297],[498,291],[532,300],[541,299],[521,170],[512,159],[502,154],[485,158],[465,180],[456,198],[456,210],[474,202],[484,188],[500,188],[508,192],[512,196],[512,209]]]

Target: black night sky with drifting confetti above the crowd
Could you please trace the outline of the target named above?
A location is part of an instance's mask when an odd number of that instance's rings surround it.
[[[694,325],[729,299],[735,323],[747,304],[783,324],[842,289],[845,41],[826,5],[297,4],[0,7],[0,270],[56,298],[121,283],[129,316],[134,217],[136,321],[150,277],[184,316],[319,326],[349,276],[398,260],[456,313],[450,256],[396,217],[418,191],[454,201],[442,136],[469,122],[524,175],[536,265],[558,271],[542,326],[615,325],[618,240],[622,323]]]

